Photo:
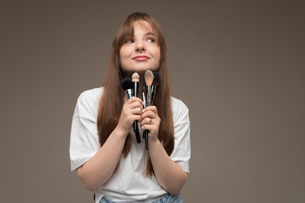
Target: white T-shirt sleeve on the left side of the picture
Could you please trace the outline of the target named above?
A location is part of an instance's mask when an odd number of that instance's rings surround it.
[[[101,88],[82,92],[76,102],[70,134],[70,162],[74,171],[99,150],[97,111]]]

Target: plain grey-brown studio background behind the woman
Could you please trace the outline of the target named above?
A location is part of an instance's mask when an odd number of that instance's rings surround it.
[[[305,203],[305,3],[0,1],[0,202],[90,203],[70,172],[78,95],[100,86],[114,34],[147,12],[190,109],[186,203]]]

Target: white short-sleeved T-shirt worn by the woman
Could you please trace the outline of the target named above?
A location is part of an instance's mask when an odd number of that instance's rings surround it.
[[[70,138],[71,170],[82,166],[100,149],[97,133],[98,103],[103,88],[82,92],[78,97],[72,120]],[[160,111],[160,110],[159,110]],[[187,172],[191,157],[190,120],[186,105],[172,97],[172,116],[174,124],[174,150],[172,160]],[[161,121],[162,122],[162,121]],[[95,203],[103,196],[114,202],[150,203],[160,199],[167,191],[157,182],[154,175],[143,172],[147,158],[145,139],[136,143],[133,130],[132,146],[126,157],[121,157],[118,170],[114,171],[108,181],[95,192]]]

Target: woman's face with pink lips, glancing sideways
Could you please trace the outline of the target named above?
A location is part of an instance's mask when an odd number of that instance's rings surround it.
[[[123,71],[128,76],[134,72],[156,71],[160,63],[160,47],[151,25],[143,20],[141,23],[135,21],[133,27],[133,37],[127,39],[119,53]]]

